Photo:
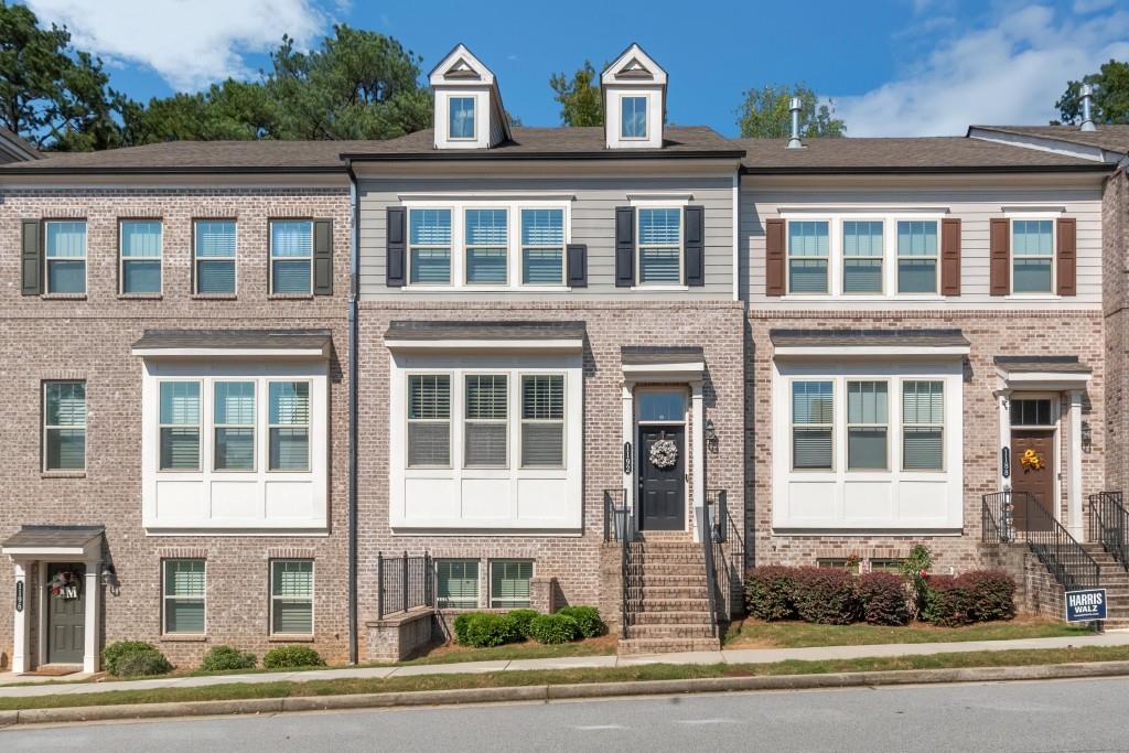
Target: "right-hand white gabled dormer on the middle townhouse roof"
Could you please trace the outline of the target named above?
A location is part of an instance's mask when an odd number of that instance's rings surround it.
[[[599,75],[609,149],[659,149],[666,112],[666,71],[632,43]]]

